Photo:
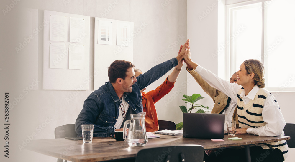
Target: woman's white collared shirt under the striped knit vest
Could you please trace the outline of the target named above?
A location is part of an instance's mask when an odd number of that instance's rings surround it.
[[[237,93],[242,88],[241,85],[223,80],[200,65],[198,65],[195,70],[210,86],[220,90],[237,103]],[[260,88],[255,85],[247,96],[245,96],[245,91],[243,90],[240,97],[243,99],[243,102],[247,104],[250,100],[254,100],[259,89]],[[247,133],[259,136],[278,136],[283,132],[286,122],[278,102],[275,102],[273,95],[269,95],[266,98],[262,110],[262,117],[266,125],[259,128],[247,128]]]

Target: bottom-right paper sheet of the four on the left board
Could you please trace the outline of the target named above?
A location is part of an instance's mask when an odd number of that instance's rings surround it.
[[[84,45],[69,45],[69,69],[84,69],[85,50]]]

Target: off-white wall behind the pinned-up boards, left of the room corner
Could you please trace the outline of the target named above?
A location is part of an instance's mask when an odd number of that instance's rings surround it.
[[[1,1],[1,9],[6,9],[11,0]],[[112,7],[113,6],[113,7]],[[93,76],[93,53],[94,53],[94,17],[104,17],[122,21],[134,22],[134,64],[137,68],[146,72],[156,64],[169,60],[177,55],[180,45],[187,39],[187,18],[186,1],[168,0],[119,0],[114,6],[114,0],[30,0],[19,1],[8,14],[0,14],[1,18],[1,45],[0,45],[0,92],[1,100],[4,100],[4,93],[9,92],[10,101],[19,101],[9,111],[9,158],[3,158],[3,147],[1,161],[48,161],[56,162],[56,158],[34,153],[20,146],[30,142],[32,134],[36,133],[34,139],[54,138],[54,129],[64,124],[75,123],[75,120],[83,107],[84,100],[93,92],[93,80],[90,80],[89,90],[42,90],[42,68],[43,68],[43,31],[39,36],[39,89],[30,90],[25,93],[23,90],[30,86],[20,86],[22,78],[20,74],[29,73],[19,67],[19,62],[30,64],[30,60],[20,60],[15,47],[14,38],[21,38],[17,31],[4,28],[6,24],[18,21],[18,18],[10,18],[18,8],[28,7],[39,10],[39,25],[43,21],[44,10],[58,11],[71,14],[90,16],[90,76]],[[108,9],[110,11],[108,11]],[[1,10],[2,11],[2,10]],[[2,21],[3,20],[3,21]],[[5,20],[5,21],[4,21]],[[21,29],[22,27],[16,27]],[[174,47],[175,46],[175,47]],[[112,52],[112,51],[110,51]],[[25,55],[26,53],[23,53]],[[107,69],[106,69],[107,70]],[[160,78],[158,81],[147,87],[153,90],[158,87],[170,74]],[[172,91],[156,103],[158,118],[171,120],[176,123],[182,121],[182,113],[178,105],[184,104],[179,98],[179,91],[186,94],[186,71],[181,74]],[[108,78],[101,78],[108,81]],[[23,95],[22,99],[18,99]],[[72,97],[72,98],[71,98]],[[71,99],[67,101],[66,99]],[[2,102],[4,104],[4,102]],[[4,110],[0,111],[3,122]],[[47,120],[46,120],[47,119]],[[48,120],[49,119],[49,120]],[[1,123],[2,123],[1,122]],[[47,122],[47,124],[45,123]],[[43,124],[43,125],[42,125]],[[40,129],[36,129],[40,125]],[[34,134],[35,135],[35,134]],[[4,144],[4,129],[1,128],[1,146]],[[2,160],[3,159],[3,160]]]

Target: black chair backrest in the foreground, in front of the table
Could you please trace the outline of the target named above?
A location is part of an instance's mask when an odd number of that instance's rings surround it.
[[[140,150],[135,162],[203,162],[204,148],[201,145],[178,145],[154,147]]]

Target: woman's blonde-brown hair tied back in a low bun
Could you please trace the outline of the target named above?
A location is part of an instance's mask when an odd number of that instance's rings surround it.
[[[264,80],[264,66],[259,60],[249,59],[244,61],[245,69],[247,74],[254,73],[254,85],[257,85],[259,88],[265,87]]]

